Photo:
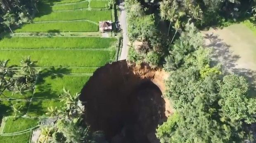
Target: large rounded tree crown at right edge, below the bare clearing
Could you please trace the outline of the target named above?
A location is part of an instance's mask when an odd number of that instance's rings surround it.
[[[248,124],[256,122],[256,99],[248,98],[248,83],[245,78],[228,75],[220,83],[220,100],[218,104],[228,117],[245,120]]]

